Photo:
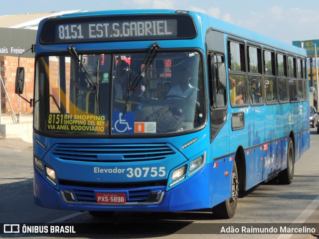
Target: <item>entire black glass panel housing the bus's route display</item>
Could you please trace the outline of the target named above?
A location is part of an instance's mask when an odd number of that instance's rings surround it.
[[[42,44],[153,39],[189,39],[197,34],[189,16],[96,17],[48,20],[40,35]]]

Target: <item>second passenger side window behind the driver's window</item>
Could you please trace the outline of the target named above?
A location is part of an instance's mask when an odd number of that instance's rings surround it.
[[[261,49],[253,46],[247,47],[247,62],[248,62],[248,79],[249,79],[249,98],[250,103],[264,104],[263,93],[263,77],[261,70]]]

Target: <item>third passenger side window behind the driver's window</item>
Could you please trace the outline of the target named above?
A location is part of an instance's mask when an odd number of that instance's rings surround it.
[[[276,73],[275,73],[275,53],[264,51],[264,87],[267,103],[277,102]]]

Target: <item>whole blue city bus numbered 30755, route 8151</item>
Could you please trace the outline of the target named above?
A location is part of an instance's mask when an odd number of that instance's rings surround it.
[[[203,13],[43,19],[35,204],[92,216],[209,209],[232,218],[239,191],[292,183],[310,147],[308,92],[304,49]]]

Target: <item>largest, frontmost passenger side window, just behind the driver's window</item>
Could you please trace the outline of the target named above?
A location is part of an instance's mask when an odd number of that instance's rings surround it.
[[[232,107],[247,105],[247,81],[244,44],[228,41],[229,97]]]

